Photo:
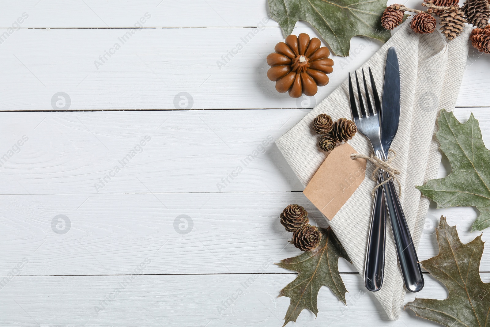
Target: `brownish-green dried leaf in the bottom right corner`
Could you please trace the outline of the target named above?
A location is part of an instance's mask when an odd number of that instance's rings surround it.
[[[416,299],[405,305],[417,316],[447,327],[489,326],[490,285],[480,278],[482,235],[468,244],[461,243],[456,226],[445,217],[436,230],[439,254],[422,261],[422,266],[449,291],[445,300]]]

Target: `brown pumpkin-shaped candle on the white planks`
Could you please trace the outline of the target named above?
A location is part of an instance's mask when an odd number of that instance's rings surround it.
[[[276,82],[276,90],[280,93],[289,91],[292,98],[301,94],[309,97],[317,94],[318,86],[328,83],[326,74],[333,71],[334,61],[329,59],[327,47],[320,48],[320,40],[310,40],[308,34],[289,35],[286,43],[279,42],[267,56],[267,63],[272,66],[267,77]]]

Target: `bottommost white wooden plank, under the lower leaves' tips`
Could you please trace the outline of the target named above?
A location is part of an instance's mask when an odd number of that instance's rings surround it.
[[[143,264],[144,260],[142,257]],[[153,262],[151,260],[147,267]],[[139,264],[128,268],[135,270]],[[289,305],[288,298],[277,296],[281,288],[294,279],[294,275],[283,274],[255,275],[253,279],[253,275],[138,276],[138,273],[139,270],[134,279],[126,279],[128,276],[15,277],[1,289],[0,324],[277,327],[283,324]],[[369,322],[369,326],[434,326],[432,322],[415,317],[410,310],[402,311],[399,320],[389,321],[379,303],[365,291],[357,274],[342,277],[349,290],[347,305],[322,287],[318,317],[315,319],[314,314],[304,310],[296,325],[290,325],[351,327],[365,326]],[[488,274],[484,277],[488,279]],[[238,295],[238,289],[243,294]],[[409,293],[405,301],[413,301],[415,297]],[[426,285],[417,293],[417,298],[423,297],[442,300],[447,292],[426,275]]]

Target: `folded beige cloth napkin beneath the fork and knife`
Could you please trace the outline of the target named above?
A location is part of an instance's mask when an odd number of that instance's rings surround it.
[[[410,29],[409,23],[405,23],[362,66],[365,70],[371,67],[377,89],[381,92],[386,52],[390,47],[396,48],[400,63],[401,111],[400,125],[391,149],[397,153],[393,165],[401,171],[398,176],[402,187],[400,200],[416,248],[429,200],[421,198],[415,186],[437,177],[441,154],[434,136],[436,118],[440,109],[454,109],[466,66],[469,32],[470,28],[466,27],[463,35],[446,42],[438,31],[417,34]],[[338,74],[344,73],[339,71]],[[341,117],[351,119],[347,80],[276,141],[277,147],[304,186],[326,157],[326,153],[318,148],[318,135],[311,129],[312,120],[320,113],[332,116],[333,120]],[[360,133],[349,144],[359,153],[369,155],[372,152],[368,139]],[[371,172],[372,166],[368,163],[365,180],[329,222],[363,280],[373,202],[371,190],[375,186],[375,182],[368,177]],[[383,287],[372,294],[386,310],[388,317],[396,320],[406,290],[389,221],[385,261]]]

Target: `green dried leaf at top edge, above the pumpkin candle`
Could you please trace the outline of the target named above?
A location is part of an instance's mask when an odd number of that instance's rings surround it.
[[[386,0],[269,0],[270,15],[290,35],[298,20],[315,27],[335,54],[349,55],[350,39],[364,35],[382,42],[391,37],[381,26]]]

